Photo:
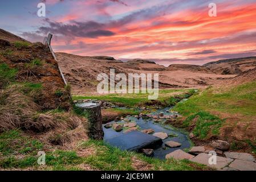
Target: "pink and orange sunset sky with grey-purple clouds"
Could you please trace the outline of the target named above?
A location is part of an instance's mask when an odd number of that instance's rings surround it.
[[[256,0],[9,0],[0,10],[0,28],[31,42],[51,32],[55,52],[165,66],[256,56]]]

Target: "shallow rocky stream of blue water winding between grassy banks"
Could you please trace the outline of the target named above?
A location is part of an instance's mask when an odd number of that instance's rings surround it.
[[[157,109],[156,111],[153,111],[151,113],[151,115],[157,116],[157,115],[159,115],[159,113],[164,113],[164,115],[177,114],[177,113],[172,113],[170,111],[170,109],[172,109],[172,107],[165,107],[164,109]],[[153,155],[154,158],[165,159],[166,154],[169,154],[170,152],[173,152],[178,149],[183,150],[185,148],[190,148],[190,146],[191,146],[188,134],[181,129],[176,129],[170,125],[165,125],[164,122],[167,119],[161,119],[160,122],[156,122],[156,120],[153,118],[139,118],[138,119],[133,116],[128,116],[128,117],[124,118],[125,121],[124,120],[112,121],[110,123],[126,123],[126,121],[128,121],[128,119],[130,122],[136,122],[137,128],[139,131],[144,130],[144,129],[153,129],[153,130],[155,130],[155,133],[163,132],[163,133],[168,134],[168,138],[162,140],[162,144],[160,146],[155,146],[155,148],[152,148],[152,149],[154,149],[154,155]],[[112,128],[106,129],[104,127],[104,125],[103,125],[103,131],[104,131],[104,140],[108,140],[108,139],[111,139],[111,138],[114,138],[114,137],[124,134],[124,130],[117,132],[117,131],[113,130]],[[170,141],[170,140],[172,140],[174,142],[181,143],[181,146],[176,147],[176,148],[166,147],[165,142]]]

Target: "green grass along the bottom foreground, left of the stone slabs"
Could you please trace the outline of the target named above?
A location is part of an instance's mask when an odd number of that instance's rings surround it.
[[[46,150],[47,170],[78,171],[79,164],[87,164],[92,169],[100,170],[135,170],[134,163],[140,160],[149,170],[195,170],[208,169],[205,166],[194,164],[188,160],[159,160],[148,158],[135,152],[121,151],[111,147],[103,141],[86,140],[78,144],[79,151],[88,151],[87,155],[79,156],[72,150],[48,151],[38,140],[25,137],[21,130],[11,130],[0,134],[0,167],[2,168],[28,168],[38,169],[38,150]],[[17,157],[19,156],[19,157]],[[140,168],[137,168],[140,169]]]

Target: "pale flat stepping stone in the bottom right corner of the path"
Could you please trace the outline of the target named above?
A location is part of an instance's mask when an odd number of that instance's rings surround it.
[[[229,167],[239,171],[256,171],[256,163],[240,159],[235,159]]]

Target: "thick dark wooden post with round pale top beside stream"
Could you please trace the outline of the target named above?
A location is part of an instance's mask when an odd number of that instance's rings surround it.
[[[88,137],[101,140],[104,137],[101,119],[101,102],[85,102],[77,104],[84,112],[88,114]]]

